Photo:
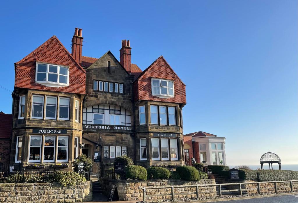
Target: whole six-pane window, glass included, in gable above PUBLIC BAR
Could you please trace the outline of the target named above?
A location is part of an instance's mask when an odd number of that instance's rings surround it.
[[[35,82],[48,87],[68,86],[69,67],[36,63]]]

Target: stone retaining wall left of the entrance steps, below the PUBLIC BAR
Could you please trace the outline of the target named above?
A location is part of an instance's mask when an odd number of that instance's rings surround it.
[[[92,183],[63,187],[58,183],[1,183],[0,202],[69,203],[92,200]]]

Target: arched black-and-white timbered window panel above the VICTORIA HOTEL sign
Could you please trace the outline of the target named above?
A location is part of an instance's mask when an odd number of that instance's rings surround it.
[[[83,109],[83,124],[131,126],[131,112],[115,105],[97,104]]]

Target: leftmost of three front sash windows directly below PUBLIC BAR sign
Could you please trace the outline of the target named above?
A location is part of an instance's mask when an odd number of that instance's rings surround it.
[[[29,162],[41,161],[41,136],[30,136]]]

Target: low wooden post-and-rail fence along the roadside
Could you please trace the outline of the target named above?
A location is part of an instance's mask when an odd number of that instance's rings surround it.
[[[175,192],[174,192],[174,188],[196,188],[195,189],[195,193],[196,193],[196,197],[199,198],[199,187],[212,187],[215,186],[215,188],[218,186],[218,195],[222,196],[222,193],[224,192],[239,192],[239,195],[242,195],[243,191],[251,191],[251,190],[257,190],[257,193],[261,193],[261,189],[271,189],[274,188],[275,193],[277,193],[278,189],[277,189],[277,183],[282,183],[282,182],[287,182],[290,183],[290,190],[291,192],[294,191],[293,189],[293,182],[298,182],[298,180],[287,180],[287,181],[268,181],[268,182],[239,182],[239,183],[223,183],[223,184],[208,184],[208,185],[175,185],[175,186],[153,186],[153,187],[147,187],[147,188],[143,188],[143,201],[146,202],[147,197],[152,197],[152,196],[171,196],[171,199],[174,199],[175,196]],[[261,187],[260,184],[264,184],[264,183],[271,183],[274,184],[274,187]],[[242,186],[246,185],[246,184],[256,184],[257,188],[242,188]],[[232,189],[232,190],[225,190],[222,188],[222,186],[236,186],[238,187],[238,189]],[[262,185],[264,186],[264,185]],[[265,184],[266,186],[266,184]],[[151,190],[151,189],[171,189],[170,193],[167,194],[150,194],[147,195],[147,190]],[[177,193],[177,195],[192,195],[194,194],[193,191],[192,192],[184,192],[184,193]]]

